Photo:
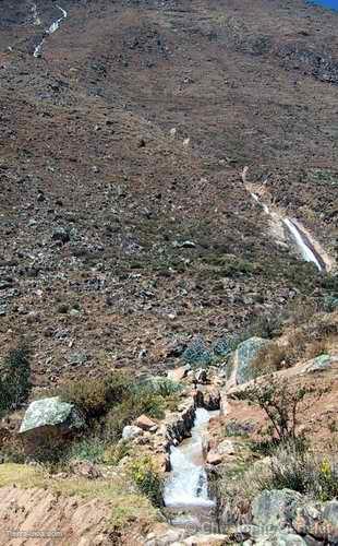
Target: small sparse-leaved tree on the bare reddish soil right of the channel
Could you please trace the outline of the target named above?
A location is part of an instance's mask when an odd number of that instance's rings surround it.
[[[291,390],[286,378],[271,377],[268,383],[254,383],[239,393],[239,400],[257,404],[267,415],[278,440],[295,439],[297,412],[304,396],[313,388]]]

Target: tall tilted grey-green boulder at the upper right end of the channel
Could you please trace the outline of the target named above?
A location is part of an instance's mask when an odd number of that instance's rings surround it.
[[[252,363],[259,351],[269,342],[262,337],[250,337],[240,343],[233,353],[228,368],[228,379],[230,385],[246,383],[255,378]]]

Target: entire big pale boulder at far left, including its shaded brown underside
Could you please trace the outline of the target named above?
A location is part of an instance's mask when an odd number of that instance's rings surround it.
[[[59,396],[36,400],[25,413],[19,434],[24,438],[27,451],[44,443],[56,441],[76,432],[85,420],[73,404],[62,402]]]

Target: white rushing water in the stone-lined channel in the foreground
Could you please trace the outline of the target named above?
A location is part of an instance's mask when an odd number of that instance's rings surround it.
[[[213,507],[208,496],[207,475],[204,467],[204,434],[210,414],[198,407],[191,438],[171,447],[171,476],[165,487],[167,507]]]

